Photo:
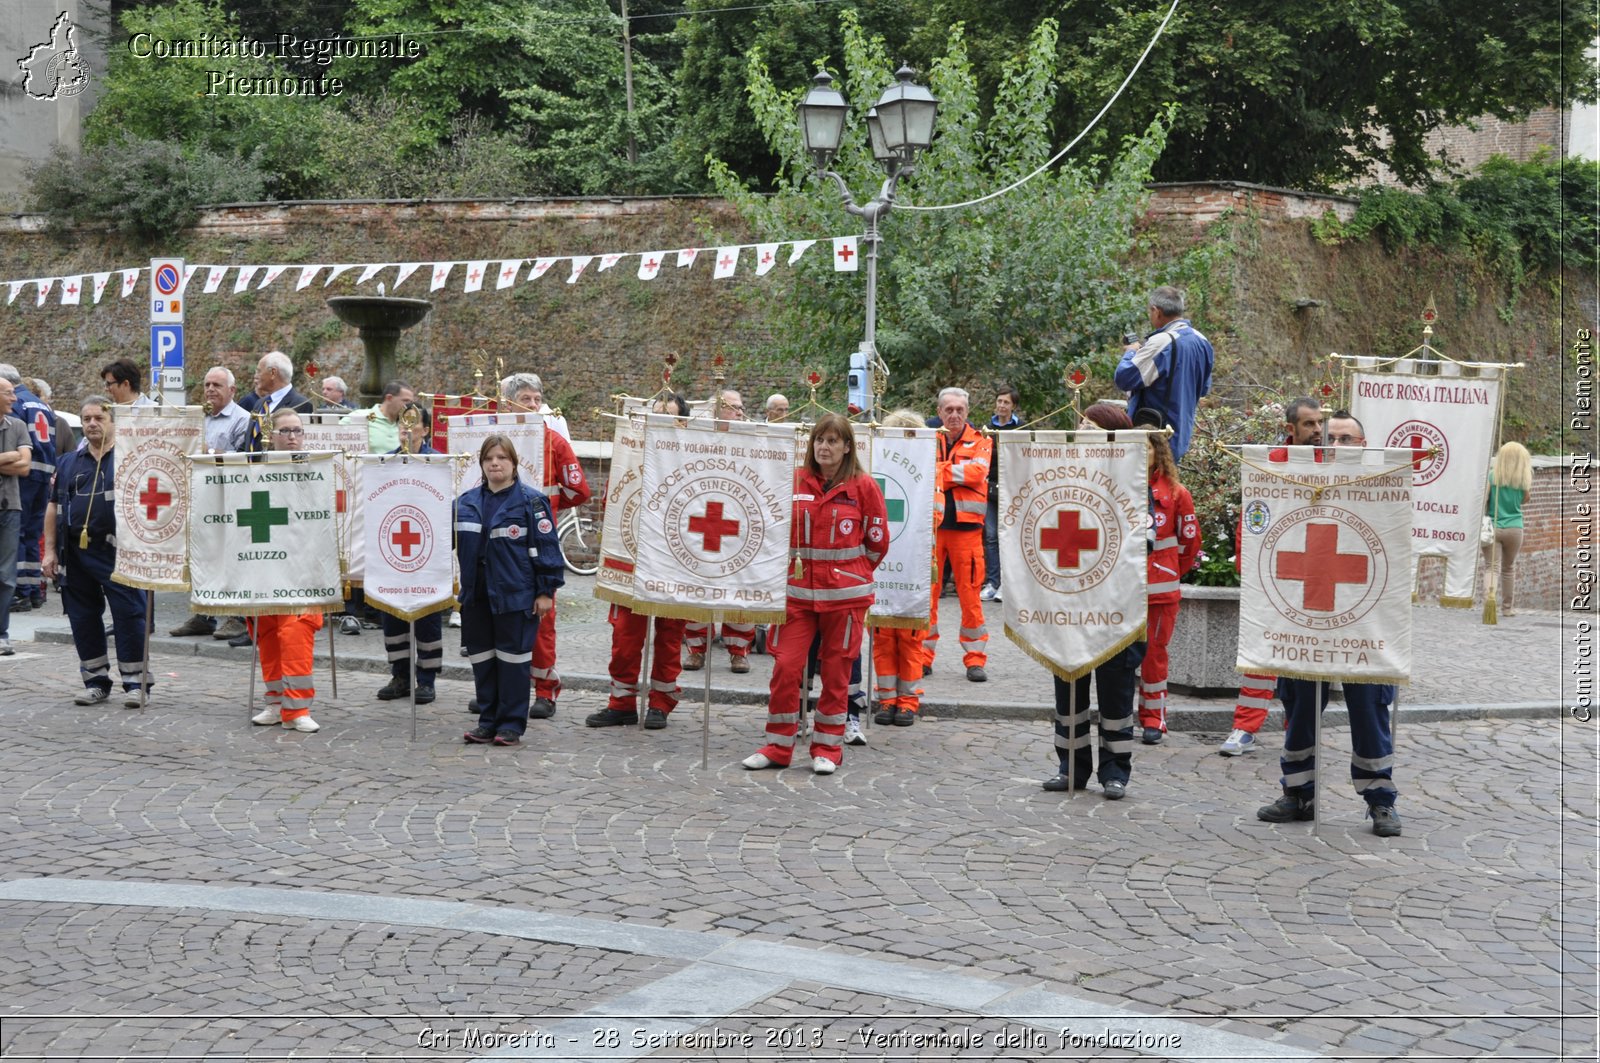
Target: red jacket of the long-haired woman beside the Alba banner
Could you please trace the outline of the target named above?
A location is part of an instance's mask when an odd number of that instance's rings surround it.
[[[819,613],[872,605],[872,573],[890,548],[883,493],[867,474],[824,490],[795,471],[789,600]]]

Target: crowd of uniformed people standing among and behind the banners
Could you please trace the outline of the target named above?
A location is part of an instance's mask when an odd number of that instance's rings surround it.
[[[1179,479],[1178,463],[1192,439],[1195,408],[1211,386],[1213,351],[1206,338],[1184,317],[1182,293],[1157,288],[1149,299],[1150,333],[1128,343],[1115,370],[1128,392],[1125,403],[1099,402],[1085,410],[1086,424],[1109,432],[1147,432],[1149,445],[1149,543],[1147,624],[1138,642],[1102,661],[1075,682],[1054,684],[1056,775],[1046,791],[1085,789],[1098,781],[1104,797],[1122,799],[1131,776],[1136,733],[1146,744],[1166,733],[1168,644],[1181,607],[1179,581],[1198,557],[1194,501]],[[320,381],[322,403],[293,386],[288,355],[269,352],[258,362],[253,387],[237,395],[230,370],[205,373],[205,448],[211,453],[254,453],[304,448],[302,416],[320,413],[341,424],[365,424],[371,453],[434,453],[429,445],[430,416],[416,392],[390,381],[379,400],[365,410],[346,402],[349,391],[338,376]],[[142,666],[147,637],[147,597],[110,576],[115,568],[115,408],[154,405],[141,391],[138,365],[117,360],[101,373],[106,395],[91,395],[80,407],[82,442],[29,387],[11,365],[0,365],[0,655],[11,653],[8,613],[37,607],[46,588],[59,581],[80,660],[80,704],[110,700],[114,674],[102,613],[112,615],[115,680],[125,704],[139,706],[150,693]],[[40,383],[42,384],[42,383]],[[517,447],[507,435],[491,435],[475,459],[482,483],[456,499],[456,540],[461,592],[451,626],[461,628],[461,652],[469,660],[475,700],[469,706],[477,725],[467,743],[515,746],[530,719],[549,719],[560,698],[557,671],[557,594],[563,584],[555,517],[582,506],[590,488],[566,424],[544,403],[544,386],[533,373],[514,373],[501,381],[501,410],[546,415],[544,483],[536,490],[518,475]],[[712,644],[720,639],[733,672],[749,672],[752,650],[773,655],[765,743],[749,757],[749,770],[781,768],[795,762],[800,703],[810,695],[811,676],[821,679],[811,720],[806,764],[813,773],[830,775],[843,764],[845,746],[866,743],[861,712],[877,703],[880,725],[910,727],[917,722],[922,685],[933,672],[941,634],[955,629],[965,679],[987,680],[989,628],[984,607],[1003,600],[998,520],[998,461],[995,432],[1024,427],[1022,395],[1008,384],[992,394],[987,426],[971,419],[971,395],[962,387],[939,392],[936,415],[923,419],[910,410],[885,418],[888,426],[938,427],[938,467],[933,506],[933,581],[930,620],[922,631],[877,628],[874,631],[870,682],[862,679],[862,634],[874,602],[874,572],[888,549],[886,506],[878,483],[864,471],[851,424],[824,413],[810,424],[805,461],[795,472],[787,612],[782,624],[710,624],[656,618],[654,621],[613,605],[606,708],[586,717],[589,727],[643,725],[661,730],[678,703],[683,671],[707,668]],[[704,410],[675,394],[658,399],[658,413],[688,419],[746,419],[744,400],[722,389]],[[773,394],[762,407],[766,423],[792,416],[789,399]],[[1320,403],[1298,399],[1285,408],[1285,445],[1365,445],[1360,423],[1347,411],[1323,421]],[[1496,456],[1488,498],[1491,525],[1485,530],[1485,562],[1498,560],[1499,592],[1506,612],[1514,604],[1512,575],[1522,541],[1522,503],[1531,487],[1528,451],[1507,443]],[[949,578],[958,602],[958,623],[941,629],[939,591]],[[360,602],[350,605],[352,621]],[[946,610],[949,613],[949,610]],[[386,618],[384,640],[390,680],[379,700],[413,696],[434,701],[434,682],[443,663],[445,613],[403,623]],[[259,725],[298,732],[318,730],[310,716],[315,700],[312,648],[323,615],[272,615],[219,618],[195,615],[173,636],[213,636],[234,645],[256,644],[266,708],[253,717]],[[645,642],[650,639],[650,676],[642,676]],[[1093,679],[1093,682],[1091,682]],[[640,693],[646,685],[645,717]],[[1091,692],[1093,685],[1093,692]],[[870,688],[872,698],[866,690]],[[1093,693],[1093,696],[1091,696]],[[1394,688],[1344,684],[1352,725],[1352,781],[1366,800],[1374,831],[1400,832],[1392,778],[1394,744],[1387,708]],[[1282,754],[1283,794],[1264,805],[1264,821],[1310,818],[1315,796],[1312,733],[1326,698],[1325,684],[1245,676],[1240,684],[1234,728],[1221,752],[1240,756],[1256,746],[1256,735],[1272,700],[1285,706]],[[1090,741],[1091,703],[1098,704],[1099,756]],[[1098,767],[1096,767],[1098,762]]]

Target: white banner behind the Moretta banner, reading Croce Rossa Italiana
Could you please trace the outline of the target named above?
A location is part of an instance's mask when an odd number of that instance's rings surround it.
[[[1371,370],[1378,359],[1352,359]],[[1427,362],[1429,375],[1410,359],[1384,362],[1394,371],[1357,371],[1350,379],[1350,413],[1366,429],[1371,447],[1411,451],[1411,565],[1445,559],[1440,605],[1472,607],[1478,564],[1478,527],[1488,488],[1490,459],[1499,427],[1501,367]],[[1475,373],[1466,376],[1466,371]]]

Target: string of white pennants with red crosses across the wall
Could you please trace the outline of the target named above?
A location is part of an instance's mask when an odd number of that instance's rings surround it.
[[[835,272],[856,272],[858,266],[858,245],[859,237],[813,237],[806,240],[781,240],[781,242],[763,242],[763,243],[730,243],[722,247],[686,247],[686,248],[670,248],[664,251],[602,251],[598,255],[546,255],[546,256],[526,256],[526,258],[509,258],[498,264],[494,261],[478,261],[478,259],[437,259],[437,261],[419,261],[419,263],[254,263],[254,264],[186,264],[184,267],[184,285],[187,285],[189,277],[200,274],[203,277],[202,293],[218,295],[226,288],[226,277],[229,271],[234,272],[232,293],[238,295],[243,291],[256,290],[261,291],[269,288],[285,271],[296,269],[294,274],[294,290],[302,291],[309,288],[318,275],[326,275],[322,287],[326,288],[333,280],[352,269],[358,269],[355,285],[371,283],[378,280],[381,274],[387,269],[395,271],[394,280],[389,285],[390,290],[398,288],[406,279],[416,271],[427,267],[430,291],[438,291],[450,283],[450,275],[456,266],[464,266],[461,280],[461,291],[466,295],[474,295],[480,291],[502,291],[506,288],[514,288],[518,283],[518,274],[525,263],[533,263],[525,275],[522,275],[520,283],[533,283],[544,277],[555,264],[566,263],[568,274],[566,283],[578,283],[581,277],[589,274],[603,274],[619,266],[626,259],[638,259],[638,266],[634,275],[638,280],[654,280],[661,275],[661,267],[666,266],[667,258],[680,269],[693,267],[701,258],[712,261],[712,277],[717,280],[726,280],[739,275],[742,263],[754,263],[752,266],[742,266],[742,272],[754,274],[757,277],[765,277],[779,263],[787,266],[795,266],[811,248],[811,245],[822,242],[824,247],[832,248],[832,267]],[[784,255],[782,248],[787,247],[789,253]],[[704,251],[704,255],[702,255]],[[752,255],[744,256],[744,251],[752,251]],[[594,271],[589,271],[589,264],[598,264]],[[146,267],[123,269],[122,272],[122,298],[131,296],[139,283],[139,277]],[[118,271],[75,271],[70,274],[61,274],[58,277],[19,277],[11,280],[0,280],[0,285],[8,288],[8,298],[16,299],[18,293],[26,285],[34,285],[37,296],[35,306],[46,306],[51,303],[50,295],[59,291],[59,298],[54,301],[56,306],[75,306],[82,304],[80,293],[83,291],[85,277],[93,275],[94,280],[94,303],[99,303],[101,293],[106,290],[106,282]],[[621,271],[619,271],[621,272]],[[496,282],[486,285],[485,280],[494,274]]]

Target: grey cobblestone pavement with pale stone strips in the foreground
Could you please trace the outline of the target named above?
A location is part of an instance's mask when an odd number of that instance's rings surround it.
[[[1341,727],[1314,837],[1210,733],[1106,802],[1038,788],[1034,720],[874,728],[822,778],[738,767],[754,704],[702,768],[693,704],[589,730],[568,692],[496,749],[458,680],[411,741],[373,672],[299,735],[250,725],[248,652],[152,671],[75,708],[69,645],[0,658],[6,1060],[1597,1053],[1600,748],[1554,711],[1402,720],[1386,840]]]

